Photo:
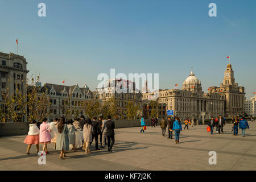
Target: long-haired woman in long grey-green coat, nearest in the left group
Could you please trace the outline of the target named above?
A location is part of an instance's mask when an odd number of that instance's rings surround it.
[[[60,150],[60,159],[67,157],[65,151],[69,150],[68,126],[65,124],[65,118],[61,117],[58,125],[58,134],[56,140],[56,150]]]

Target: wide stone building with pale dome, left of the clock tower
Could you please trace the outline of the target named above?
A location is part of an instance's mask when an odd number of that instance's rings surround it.
[[[204,93],[201,81],[193,71],[183,82],[182,89],[164,89],[154,93],[143,94],[143,100],[158,100],[165,103],[167,110],[174,110],[174,115],[181,119],[186,117],[197,119],[204,114],[206,118],[210,115],[217,117],[224,115],[224,97],[217,93]]]

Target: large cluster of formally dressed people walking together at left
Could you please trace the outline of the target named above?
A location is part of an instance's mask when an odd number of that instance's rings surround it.
[[[42,151],[46,155],[49,154],[47,144],[54,143],[54,149],[60,151],[59,158],[65,159],[67,151],[75,152],[81,147],[82,150],[85,150],[85,154],[91,154],[90,146],[93,140],[95,140],[96,150],[100,150],[98,147],[98,138],[100,138],[100,147],[105,148],[105,145],[108,144],[108,151],[112,152],[115,141],[114,129],[115,125],[110,115],[106,119],[93,117],[92,120],[85,119],[81,115],[75,121],[69,119],[68,122],[65,122],[64,117],[56,118],[53,122],[47,122],[47,118],[44,118],[39,128],[36,121],[30,123],[24,143],[28,144],[27,154],[30,154],[32,144],[36,145],[37,152],[39,152],[39,144],[43,144]]]

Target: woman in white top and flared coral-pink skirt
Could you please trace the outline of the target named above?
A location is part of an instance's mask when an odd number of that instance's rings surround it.
[[[32,121],[30,124],[30,130],[27,133],[27,137],[24,143],[28,144],[27,154],[30,154],[30,148],[32,144],[36,144],[36,152],[39,152],[39,128],[36,126],[36,121]]]

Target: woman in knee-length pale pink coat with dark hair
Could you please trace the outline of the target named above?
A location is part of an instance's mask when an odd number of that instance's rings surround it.
[[[47,144],[51,143],[51,134],[49,133],[49,123],[47,123],[47,118],[43,119],[43,123],[40,125],[40,144],[44,144],[43,151],[46,151],[46,154],[49,154],[47,150]]]

